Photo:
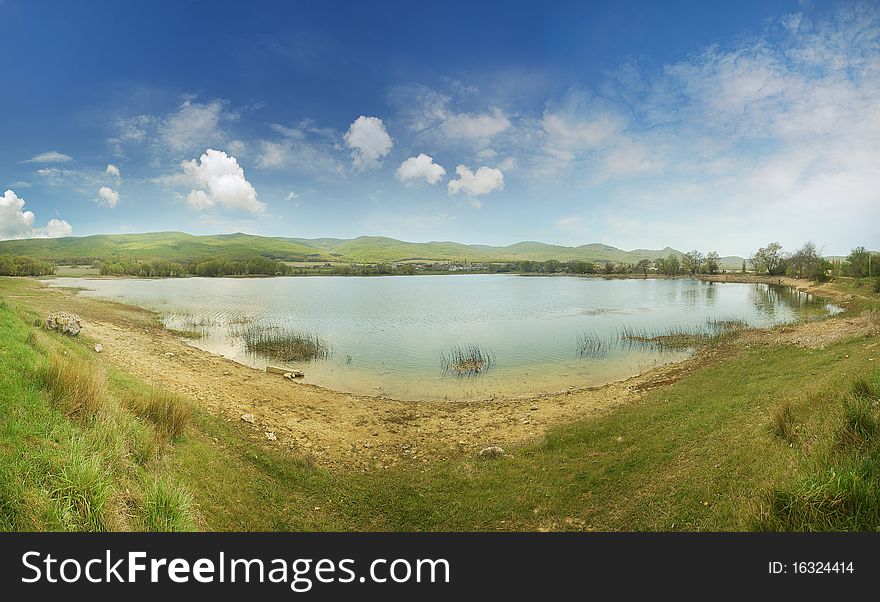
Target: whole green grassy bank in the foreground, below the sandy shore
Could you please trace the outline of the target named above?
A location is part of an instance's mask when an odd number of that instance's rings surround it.
[[[0,279],[0,295],[21,286]],[[855,311],[871,311],[872,299]],[[6,529],[880,526],[880,337],[873,334],[818,349],[746,348],[731,337],[677,382],[507,448],[504,457],[458,455],[359,473],[253,443],[240,423],[198,407],[168,430],[162,425],[174,412],[149,402],[161,392],[102,365],[86,339],[33,326],[35,317],[27,299],[0,302]],[[71,411],[59,401],[69,385],[50,384],[45,368],[59,356],[92,367],[87,373],[101,381],[98,410]]]

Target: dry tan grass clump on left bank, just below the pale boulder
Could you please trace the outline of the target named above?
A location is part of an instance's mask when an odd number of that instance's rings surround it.
[[[103,371],[87,361],[51,353],[41,370],[43,386],[62,412],[77,418],[97,414],[107,391]]]

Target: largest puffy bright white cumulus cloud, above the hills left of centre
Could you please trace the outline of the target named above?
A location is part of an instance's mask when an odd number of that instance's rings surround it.
[[[183,181],[193,186],[186,197],[193,209],[219,206],[250,213],[266,211],[266,204],[257,199],[256,189],[245,179],[235,157],[209,148],[198,161],[184,161],[181,165]]]

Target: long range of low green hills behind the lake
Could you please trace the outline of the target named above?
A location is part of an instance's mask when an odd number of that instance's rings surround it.
[[[541,242],[518,242],[506,247],[465,245],[457,242],[404,242],[383,236],[341,238],[279,238],[251,234],[193,236],[182,232],[149,234],[100,234],[68,238],[32,238],[0,241],[0,254],[30,255],[38,259],[67,263],[94,259],[167,259],[185,262],[205,257],[242,259],[263,255],[279,261],[331,261],[380,263],[404,260],[426,261],[593,261],[637,263],[681,251],[635,249],[623,251],[601,243],[565,247]],[[721,258],[726,269],[739,269],[743,258]]]

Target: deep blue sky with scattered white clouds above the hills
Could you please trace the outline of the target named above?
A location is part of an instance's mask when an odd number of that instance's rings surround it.
[[[876,3],[0,0],[0,25],[0,238],[880,247]]]

